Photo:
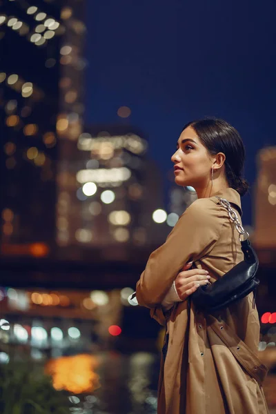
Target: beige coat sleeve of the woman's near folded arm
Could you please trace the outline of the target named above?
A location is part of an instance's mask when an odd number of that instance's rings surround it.
[[[152,316],[184,264],[195,262],[212,250],[223,226],[220,216],[214,201],[197,199],[179,217],[166,242],[150,255],[137,282],[136,296],[139,305],[155,309]]]

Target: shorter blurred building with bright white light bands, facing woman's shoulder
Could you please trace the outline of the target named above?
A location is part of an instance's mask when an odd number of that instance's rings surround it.
[[[162,182],[147,146],[130,126],[88,127],[79,136],[78,161],[58,179],[60,246],[79,243],[119,259],[128,255],[126,247],[164,241],[168,227],[152,219],[164,204]]]

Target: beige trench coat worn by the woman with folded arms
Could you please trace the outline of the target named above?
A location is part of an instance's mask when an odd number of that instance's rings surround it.
[[[228,199],[242,215],[239,193]],[[137,300],[166,326],[168,352],[161,369],[158,414],[266,414],[262,388],[266,366],[257,357],[259,317],[253,293],[214,315],[196,311],[193,301],[178,302],[164,313],[166,293],[179,270],[193,261],[209,271],[210,282],[244,259],[239,234],[215,197],[197,199],[149,257],[137,282]]]

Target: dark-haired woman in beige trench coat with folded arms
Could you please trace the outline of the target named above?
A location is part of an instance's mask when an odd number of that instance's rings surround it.
[[[239,133],[220,119],[187,124],[172,155],[176,184],[193,186],[198,199],[150,255],[136,293],[138,303],[166,326],[158,414],[268,413],[253,293],[213,315],[187,300],[244,259],[239,234],[216,198],[227,199],[240,220],[240,196],[248,189],[244,157]],[[192,262],[196,268],[187,270]]]

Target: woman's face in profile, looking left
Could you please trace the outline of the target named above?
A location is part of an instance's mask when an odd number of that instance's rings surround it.
[[[210,181],[213,159],[191,126],[181,133],[172,162],[175,164],[175,182],[179,186],[196,189]]]

